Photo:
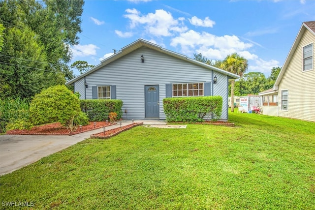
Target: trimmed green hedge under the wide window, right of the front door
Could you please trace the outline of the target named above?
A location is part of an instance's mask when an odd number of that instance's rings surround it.
[[[222,113],[221,96],[164,98],[163,107],[167,121],[200,122],[206,114],[218,120]]]

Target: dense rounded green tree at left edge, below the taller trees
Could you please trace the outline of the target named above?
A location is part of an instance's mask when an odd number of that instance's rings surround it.
[[[54,83],[62,84],[62,75],[46,70],[44,47],[29,28],[6,30],[0,55],[0,97],[30,98]],[[54,84],[53,83],[53,84]]]

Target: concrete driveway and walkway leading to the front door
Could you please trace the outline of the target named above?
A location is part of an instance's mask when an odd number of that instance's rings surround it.
[[[166,124],[163,120],[134,120],[144,124]],[[122,120],[122,126],[131,124],[131,120]],[[117,123],[106,127],[113,129],[120,127]],[[102,132],[95,129],[72,136],[47,135],[0,135],[0,175],[11,173],[27,166],[42,157],[48,156],[71,145],[90,138],[92,134]]]

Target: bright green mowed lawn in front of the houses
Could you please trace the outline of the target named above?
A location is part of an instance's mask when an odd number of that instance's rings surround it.
[[[315,209],[315,123],[230,113],[236,127],[136,127],[0,177],[33,209]],[[7,207],[1,207],[7,209]]]

